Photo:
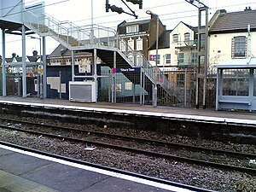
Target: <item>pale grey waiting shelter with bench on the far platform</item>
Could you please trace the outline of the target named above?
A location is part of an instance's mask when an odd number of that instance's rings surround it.
[[[256,58],[224,61],[216,67],[216,110],[256,110]]]

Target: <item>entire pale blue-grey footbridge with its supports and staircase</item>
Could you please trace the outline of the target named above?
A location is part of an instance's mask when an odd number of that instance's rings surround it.
[[[148,93],[153,93],[156,96],[155,90],[166,94],[169,93],[171,86],[166,76],[159,68],[152,66],[148,60],[138,51],[129,47],[126,41],[119,36],[119,33],[114,29],[98,25],[77,26],[71,21],[56,20],[50,15],[44,13],[44,3],[37,4],[31,7],[25,7],[23,1],[11,1],[12,5],[7,3],[9,1],[1,1],[3,6],[8,6],[9,12],[0,17],[0,26],[3,35],[3,74],[5,74],[5,66],[13,65],[14,67],[22,67],[22,71],[26,71],[28,63],[25,59],[26,51],[26,35],[37,33],[43,38],[43,60],[42,62],[33,63],[33,65],[43,65],[46,68],[45,56],[45,37],[54,38],[57,42],[74,51],[85,50],[93,55],[93,74],[92,79],[97,82],[101,78],[96,73],[96,58],[99,57],[110,68],[131,68],[140,67],[143,74],[143,84],[152,84],[152,86],[144,86],[143,89]],[[15,18],[12,15],[16,12]],[[18,12],[17,12],[18,11]],[[19,12],[20,11],[20,12]],[[17,14],[18,13],[18,14]],[[20,31],[22,35],[22,62],[21,63],[6,63],[5,62],[5,33],[15,33]],[[131,61],[128,55],[133,55],[137,58],[136,61]],[[32,65],[32,64],[30,64]],[[72,66],[74,66],[74,54],[72,54]],[[77,77],[74,74],[74,67],[72,67],[72,80],[75,81]],[[46,70],[43,73],[44,88],[46,87]],[[142,75],[138,74],[138,75]],[[130,79],[129,73],[126,73],[127,79]],[[26,97],[26,73],[22,74],[23,83],[23,97]],[[133,84],[142,84],[142,80],[131,79]],[[155,87],[157,89],[155,89]],[[164,90],[164,91],[163,91]],[[6,79],[3,75],[3,96],[6,96]],[[46,97],[46,89],[44,89],[44,97]],[[152,98],[154,100],[155,98]]]

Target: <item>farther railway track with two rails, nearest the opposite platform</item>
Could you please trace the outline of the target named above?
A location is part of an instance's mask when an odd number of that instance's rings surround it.
[[[144,138],[137,138],[137,137],[126,137],[126,136],[119,136],[109,133],[103,133],[98,131],[85,131],[80,129],[75,129],[72,127],[61,127],[61,126],[53,126],[53,125],[42,125],[38,123],[32,123],[27,121],[20,121],[20,120],[14,120],[14,119],[0,119],[3,122],[8,122],[7,125],[0,125],[0,127],[4,129],[9,130],[15,130],[15,131],[23,131],[30,134],[36,134],[38,136],[44,136],[44,137],[52,137],[52,138],[58,138],[61,140],[66,140],[70,142],[76,142],[76,143],[85,143],[87,145],[94,145],[96,147],[102,147],[102,148],[113,148],[118,150],[125,150],[129,151],[131,153],[135,154],[145,154],[148,156],[154,156],[157,158],[164,158],[168,160],[177,160],[180,162],[187,162],[189,164],[196,164],[199,166],[212,166],[218,169],[225,169],[229,171],[238,171],[238,172],[247,172],[250,174],[255,175],[256,174],[256,168],[246,167],[246,166],[234,166],[234,165],[228,165],[224,163],[217,163],[212,162],[208,160],[198,160],[191,157],[185,157],[185,156],[177,156],[173,155],[171,152],[159,152],[161,151],[161,148],[176,148],[178,150],[183,149],[186,151],[193,151],[196,153],[207,153],[207,154],[220,154],[224,155],[225,157],[236,157],[237,161],[241,162],[241,160],[247,160],[247,159],[256,159],[255,154],[244,154],[244,153],[238,153],[233,151],[224,151],[224,150],[217,150],[214,148],[201,148],[201,147],[195,147],[190,145],[184,145],[184,144],[177,144],[177,143],[166,143],[162,141],[155,141],[155,140],[148,140]],[[12,123],[10,123],[12,122]],[[30,127],[28,125],[31,125]],[[26,127],[26,129],[23,129]],[[43,131],[44,129],[44,131]],[[55,132],[55,134],[53,134]],[[81,139],[82,137],[82,139]],[[85,138],[88,137],[88,138]],[[102,138],[100,138],[102,137]],[[107,142],[99,142],[100,140],[105,141],[107,138],[112,138],[113,143],[107,143]],[[125,145],[124,144],[117,144],[120,140],[128,141]],[[122,142],[123,143],[123,142]],[[138,147],[136,143],[143,144],[141,147]],[[131,146],[135,146],[132,147]],[[145,147],[146,146],[146,147]],[[149,147],[151,146],[151,147]],[[152,147],[153,146],[153,147]],[[155,146],[158,146],[159,148],[156,148]],[[146,149],[144,149],[146,148]],[[148,148],[154,148],[154,150],[148,150]],[[236,161],[236,160],[235,160]]]

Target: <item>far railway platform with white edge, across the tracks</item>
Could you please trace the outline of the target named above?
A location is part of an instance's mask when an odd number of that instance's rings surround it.
[[[111,102],[70,102],[59,99],[39,99],[32,97],[0,96],[0,104],[17,104],[45,108],[66,108],[95,112],[138,114],[142,116],[159,116],[171,119],[206,120],[244,125],[256,125],[256,113],[248,111],[216,111],[214,109],[176,108],[151,105],[137,105]]]

